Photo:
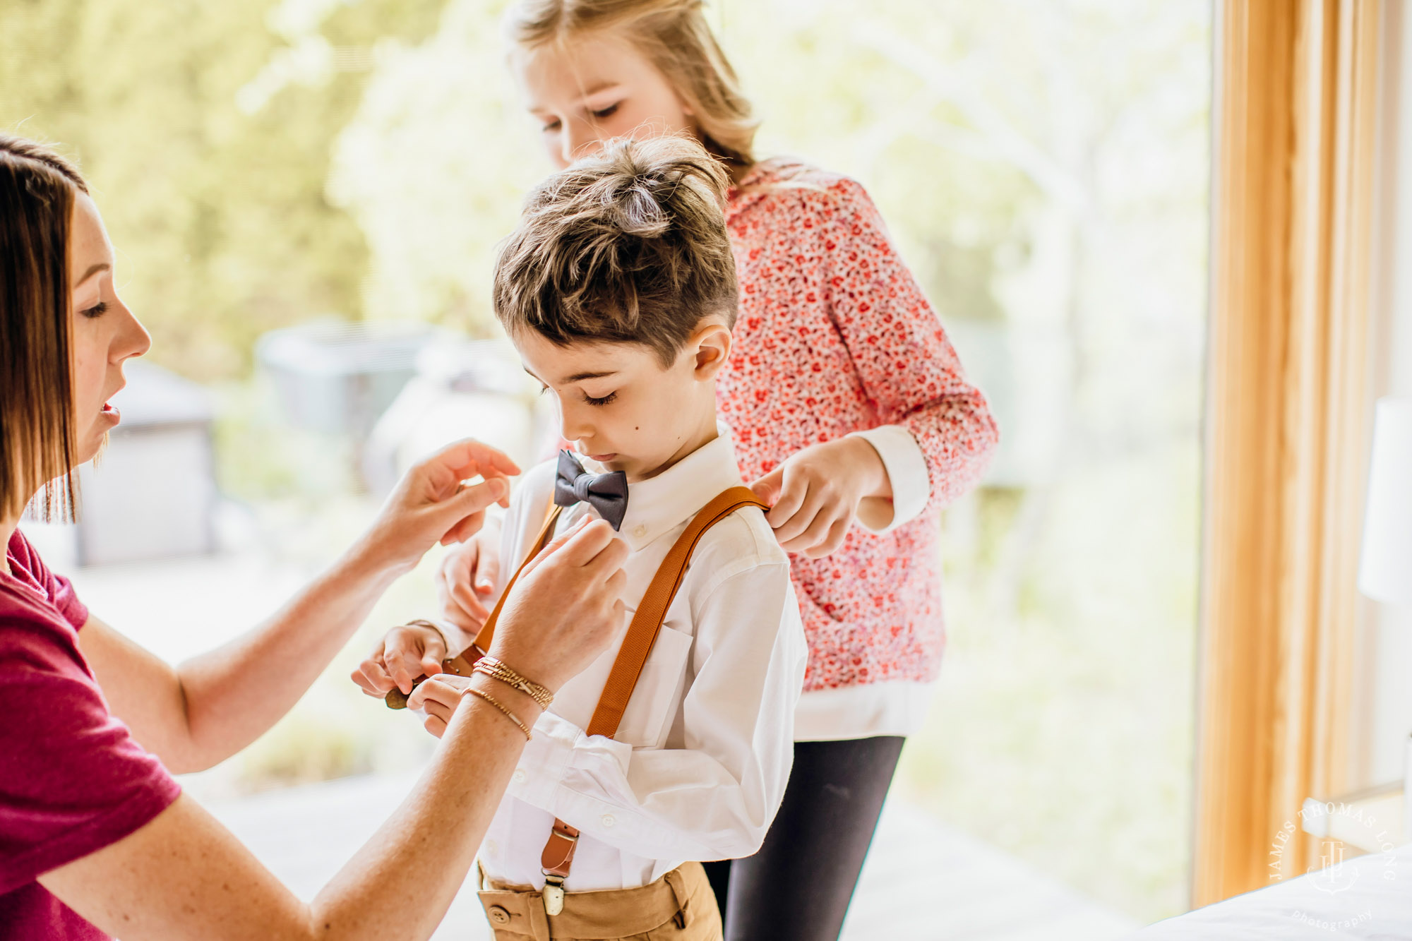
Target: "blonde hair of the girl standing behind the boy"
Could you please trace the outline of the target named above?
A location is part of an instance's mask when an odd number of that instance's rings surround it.
[[[755,162],[760,122],[706,24],[702,0],[520,0],[505,27],[527,48],[596,31],[626,38],[692,110],[706,150],[743,168]]]

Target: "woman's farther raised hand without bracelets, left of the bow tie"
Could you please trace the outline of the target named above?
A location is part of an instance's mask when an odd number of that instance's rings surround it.
[[[508,506],[505,478],[515,473],[514,461],[479,441],[442,448],[402,476],[354,551],[378,571],[408,572],[435,543],[477,533],[491,503]],[[474,476],[484,482],[462,483]]]

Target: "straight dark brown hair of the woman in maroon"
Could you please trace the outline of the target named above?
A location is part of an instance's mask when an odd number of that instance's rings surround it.
[[[44,486],[42,519],[72,520],[69,226],[75,167],[32,140],[0,134],[0,516]],[[47,486],[45,486],[47,485]]]

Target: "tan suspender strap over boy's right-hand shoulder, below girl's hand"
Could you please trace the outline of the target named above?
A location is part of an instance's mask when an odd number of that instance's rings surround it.
[[[666,609],[676,598],[676,589],[682,586],[682,576],[686,574],[686,564],[690,562],[696,543],[710,527],[716,526],[736,510],[746,506],[758,506],[762,510],[770,507],[760,502],[760,497],[750,487],[731,487],[707,503],[686,524],[686,530],[678,537],[676,544],[666,552],[657,575],[647,586],[647,593],[633,615],[633,623],[623,637],[617,660],[613,661],[613,671],[603,685],[603,695],[599,697],[599,706],[589,721],[589,735],[606,735],[610,739],[617,735],[618,723],[623,722],[623,712],[627,711],[627,701],[633,698],[637,688],[637,678],[642,674],[647,656],[652,651],[657,633],[666,617]]]

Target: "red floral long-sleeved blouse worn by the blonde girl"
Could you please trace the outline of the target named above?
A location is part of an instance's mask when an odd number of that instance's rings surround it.
[[[791,555],[805,695],[932,682],[945,644],[936,510],[995,448],[986,398],[856,181],[768,161],[731,191],[726,219],[741,291],[717,400],[744,479],[878,425],[909,431],[926,461],[921,516],[878,534],[853,527],[827,558]]]

